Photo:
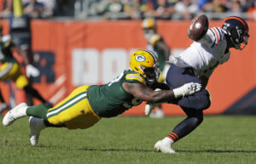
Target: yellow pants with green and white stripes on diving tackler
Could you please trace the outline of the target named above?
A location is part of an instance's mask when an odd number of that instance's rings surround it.
[[[88,128],[98,122],[101,117],[91,109],[87,99],[88,85],[76,88],[61,103],[50,108],[48,121],[54,125],[65,124],[69,129]]]

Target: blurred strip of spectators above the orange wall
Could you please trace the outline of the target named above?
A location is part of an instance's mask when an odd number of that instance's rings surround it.
[[[12,14],[13,0],[0,0],[0,17]],[[146,17],[164,20],[191,20],[205,13],[209,19],[225,14],[256,20],[256,0],[22,0],[24,13],[32,18],[61,16],[80,19],[142,20]]]

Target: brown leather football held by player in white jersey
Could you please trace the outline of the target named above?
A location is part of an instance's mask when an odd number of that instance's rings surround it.
[[[200,14],[196,16],[189,26],[188,36],[194,41],[200,40],[207,33],[209,27],[209,21],[207,15]]]

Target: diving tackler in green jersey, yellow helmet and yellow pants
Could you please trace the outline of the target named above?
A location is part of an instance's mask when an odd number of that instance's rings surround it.
[[[118,116],[142,101],[172,103],[179,97],[201,90],[199,83],[188,83],[169,90],[166,84],[157,82],[158,69],[156,54],[138,49],[131,54],[130,69],[123,71],[112,82],[76,88],[53,108],[21,103],[3,117],[3,125],[9,126],[22,116],[30,116],[30,142],[36,145],[45,127],[84,129],[93,126],[102,117]],[[154,91],[154,88],[166,90]]]

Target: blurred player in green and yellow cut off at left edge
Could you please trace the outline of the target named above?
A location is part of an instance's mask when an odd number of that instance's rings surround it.
[[[19,46],[15,45],[9,35],[2,36],[2,25],[0,22],[0,82],[5,80],[12,80],[15,82],[16,87],[23,89],[26,93],[32,97],[40,100],[45,105],[51,106],[35,88],[28,82],[27,76],[38,76],[39,71],[36,67],[29,64],[26,54],[20,49]],[[14,57],[14,52],[20,54],[24,63],[26,64],[26,75],[21,71],[21,65]],[[3,97],[1,96],[3,101]],[[5,104],[5,102],[3,101]]]

